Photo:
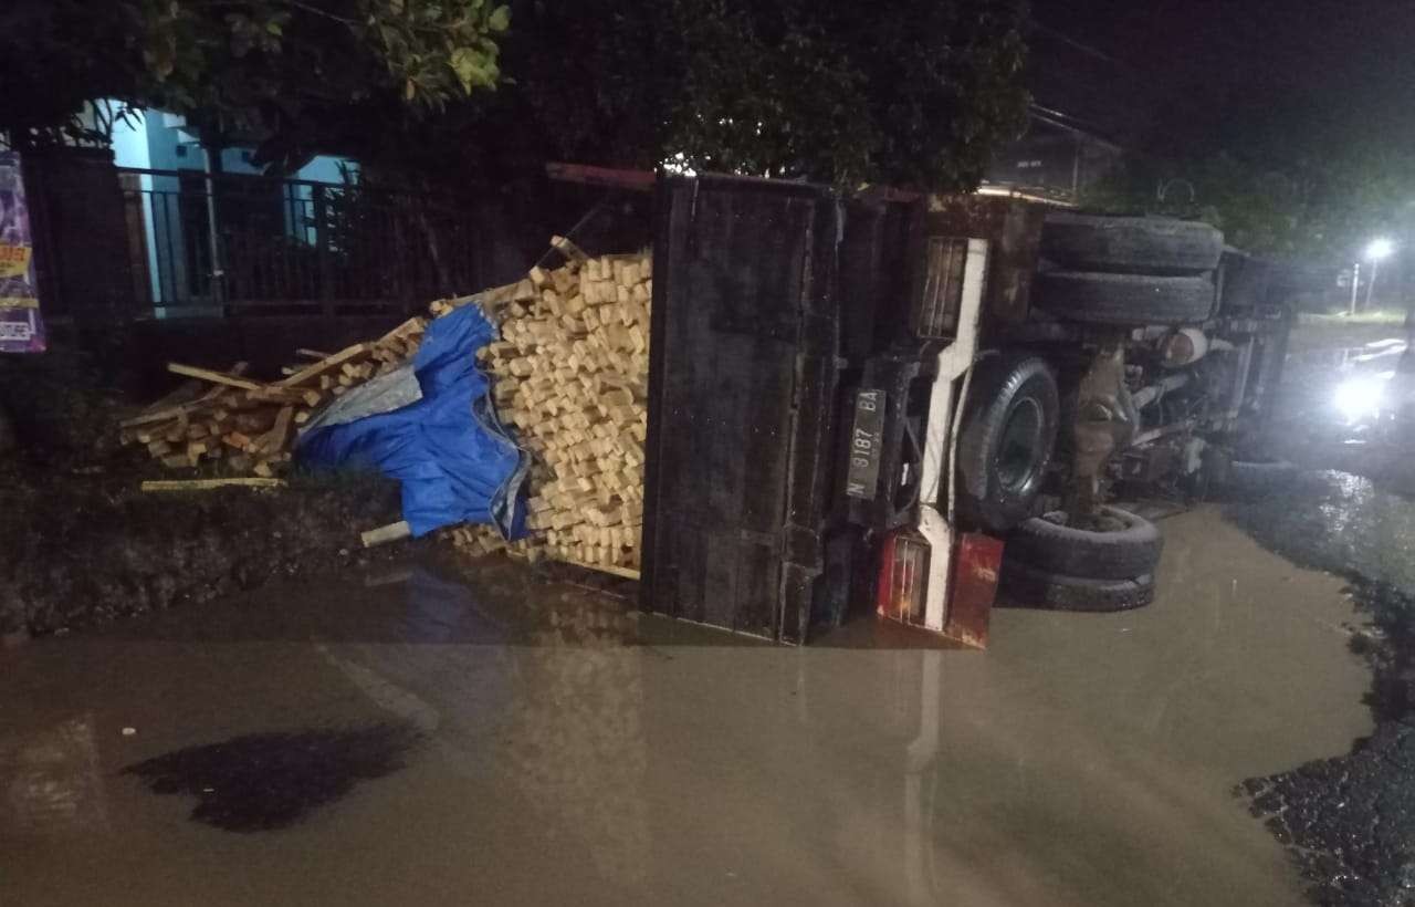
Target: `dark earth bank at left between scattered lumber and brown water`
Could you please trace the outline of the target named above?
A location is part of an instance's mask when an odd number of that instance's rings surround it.
[[[358,545],[359,531],[399,518],[396,484],[375,475],[140,491],[143,478],[173,475],[117,449],[116,420],[136,406],[117,383],[74,351],[0,358],[0,406],[18,441],[0,451],[0,634],[55,632],[396,553]]]

